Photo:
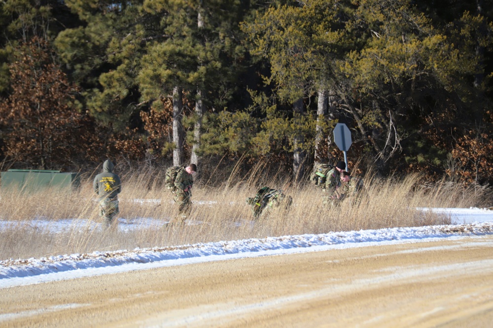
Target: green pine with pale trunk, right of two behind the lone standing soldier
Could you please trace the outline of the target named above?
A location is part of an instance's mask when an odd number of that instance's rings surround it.
[[[178,0],[146,2],[145,9],[155,15],[166,13],[161,29],[169,38],[149,44],[142,58],[143,99],[170,94],[175,88],[194,96],[194,129],[187,142],[193,145],[190,160],[198,164],[205,151],[201,144],[204,115],[211,109],[223,110],[232,99],[231,81],[237,78],[236,61],[242,53],[234,38],[244,8],[223,0]],[[224,90],[226,97],[220,94]]]

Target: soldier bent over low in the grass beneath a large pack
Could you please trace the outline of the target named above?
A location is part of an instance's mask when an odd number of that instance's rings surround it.
[[[271,209],[288,209],[293,203],[291,196],[286,196],[282,190],[262,187],[257,191],[255,197],[248,197],[246,204],[251,205],[251,213],[255,219],[266,215]],[[283,207],[282,207],[283,206]]]

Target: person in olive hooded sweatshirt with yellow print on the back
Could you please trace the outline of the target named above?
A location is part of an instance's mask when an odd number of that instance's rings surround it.
[[[94,192],[99,196],[100,215],[109,227],[118,214],[118,194],[122,191],[120,178],[113,173],[114,165],[109,159],[103,163],[103,172],[94,178]]]

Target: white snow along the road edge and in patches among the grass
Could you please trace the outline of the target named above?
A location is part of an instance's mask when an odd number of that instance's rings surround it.
[[[70,254],[39,259],[10,259],[0,261],[0,288],[242,257],[303,253],[444,238],[452,239],[460,238],[464,235],[481,236],[493,234],[492,210],[476,208],[422,210],[445,213],[451,217],[452,225],[332,232],[320,235],[283,236],[174,247]],[[17,223],[0,221],[0,230],[9,229],[13,224]],[[29,225],[36,228],[49,229],[53,232],[73,229],[77,225],[84,228],[97,228],[98,226],[95,222],[78,219],[57,220],[56,223],[46,220],[33,220],[29,222]],[[118,222],[118,229],[122,232],[141,229],[142,226],[147,228],[158,227],[162,226],[162,221],[142,218],[132,221],[120,219]]]

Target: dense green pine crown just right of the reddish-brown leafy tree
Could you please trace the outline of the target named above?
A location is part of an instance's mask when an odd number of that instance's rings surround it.
[[[83,90],[84,106],[100,125],[115,133],[141,126],[137,80],[145,45],[165,35],[160,18],[142,10],[142,1],[67,3],[79,26],[64,30],[55,45],[73,81]],[[146,107],[147,106],[147,107]]]

